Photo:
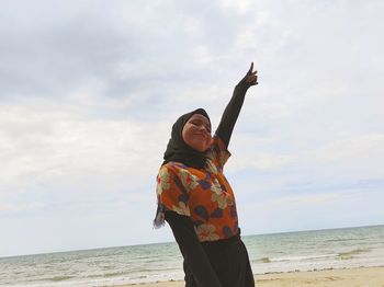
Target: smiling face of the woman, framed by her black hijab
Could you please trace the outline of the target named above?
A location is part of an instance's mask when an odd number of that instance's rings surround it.
[[[182,138],[191,148],[204,152],[212,142],[210,120],[200,114],[194,114],[182,129]]]

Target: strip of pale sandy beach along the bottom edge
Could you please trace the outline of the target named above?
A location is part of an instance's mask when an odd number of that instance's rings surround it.
[[[118,285],[118,287],[183,287],[183,282],[155,284]],[[384,287],[384,266],[350,269],[326,269],[315,272],[293,272],[256,276],[259,287]],[[117,287],[117,286],[115,286]]]

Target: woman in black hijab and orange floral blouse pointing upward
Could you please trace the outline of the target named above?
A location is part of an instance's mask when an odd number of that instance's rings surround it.
[[[171,227],[184,259],[185,287],[255,286],[235,196],[223,174],[246,92],[258,83],[252,70],[253,62],[236,85],[214,137],[203,108],[180,116],[172,126],[157,176],[155,227],[165,221]]]

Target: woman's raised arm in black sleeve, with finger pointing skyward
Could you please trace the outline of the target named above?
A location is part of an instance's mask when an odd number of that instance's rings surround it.
[[[257,71],[253,71],[252,62],[247,74],[235,87],[234,94],[223,113],[221,123],[215,133],[224,141],[226,147],[229,145],[230,136],[240,113],[245,95],[248,89],[255,84],[258,84],[258,76]]]

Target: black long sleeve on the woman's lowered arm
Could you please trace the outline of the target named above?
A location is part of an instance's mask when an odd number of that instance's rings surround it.
[[[184,262],[191,269],[199,287],[222,287],[205,251],[199,242],[191,219],[174,211],[166,213]]]

